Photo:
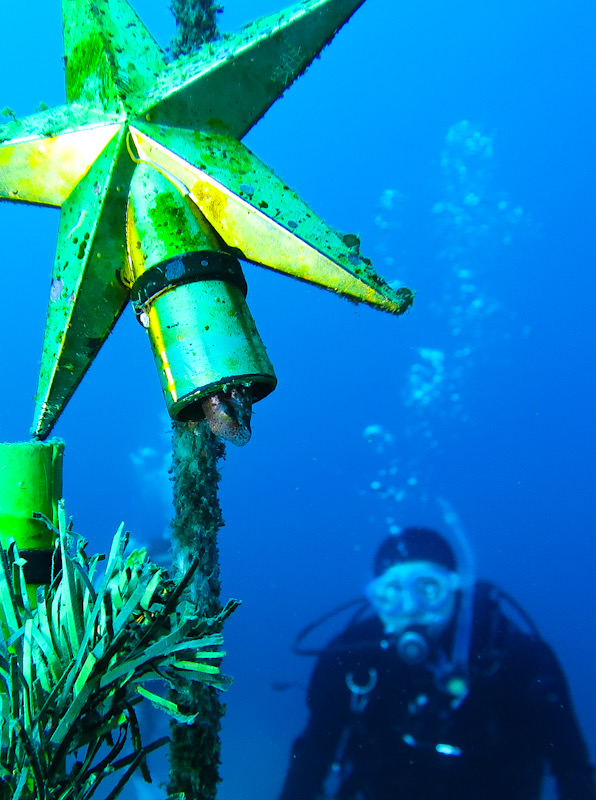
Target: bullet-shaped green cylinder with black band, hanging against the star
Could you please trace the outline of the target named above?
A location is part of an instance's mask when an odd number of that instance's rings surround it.
[[[131,300],[147,329],[170,416],[203,418],[206,397],[231,387],[260,400],[276,384],[246,305],[238,259],[169,180],[139,164],[127,241]]]

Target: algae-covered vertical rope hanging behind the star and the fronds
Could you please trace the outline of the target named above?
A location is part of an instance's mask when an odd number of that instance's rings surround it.
[[[170,9],[177,26],[170,45],[174,58],[218,37],[216,17],[221,6],[212,0],[171,0]],[[224,457],[224,446],[206,422],[173,423],[172,446],[174,562],[184,571],[185,564],[199,559],[193,599],[217,614],[221,610],[217,532],[223,525],[218,461]],[[211,800],[220,781],[219,733],[225,706],[215,689],[198,685],[189,685],[183,702],[199,717],[192,725],[171,724],[168,793],[181,792],[185,800]]]

